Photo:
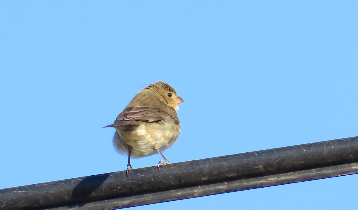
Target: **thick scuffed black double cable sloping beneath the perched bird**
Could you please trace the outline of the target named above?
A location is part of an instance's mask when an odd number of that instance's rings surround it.
[[[0,209],[117,209],[358,173],[358,137],[0,190]]]

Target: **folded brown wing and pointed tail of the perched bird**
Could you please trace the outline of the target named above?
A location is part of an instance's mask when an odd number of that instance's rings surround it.
[[[121,114],[117,116],[116,121],[107,125],[106,127],[114,127],[119,125],[139,125],[138,121],[145,123],[162,123],[165,119],[170,117],[174,121],[174,116],[170,115],[168,112],[158,109],[158,108],[149,108],[147,106],[134,106],[133,108],[127,108],[122,111]]]

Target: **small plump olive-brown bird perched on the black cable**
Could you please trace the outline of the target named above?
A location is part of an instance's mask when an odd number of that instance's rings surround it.
[[[113,145],[119,153],[128,155],[127,177],[131,157],[140,158],[159,153],[164,161],[169,161],[162,153],[171,147],[180,133],[180,123],[176,111],[183,99],[176,95],[173,87],[158,81],[150,84],[134,96],[113,124],[116,132]]]

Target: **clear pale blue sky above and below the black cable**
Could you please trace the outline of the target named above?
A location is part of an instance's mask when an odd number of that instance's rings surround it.
[[[1,1],[0,188],[125,170],[102,127],[159,80],[184,99],[172,163],[357,136],[357,11],[357,1]],[[133,209],[354,209],[357,180]]]

